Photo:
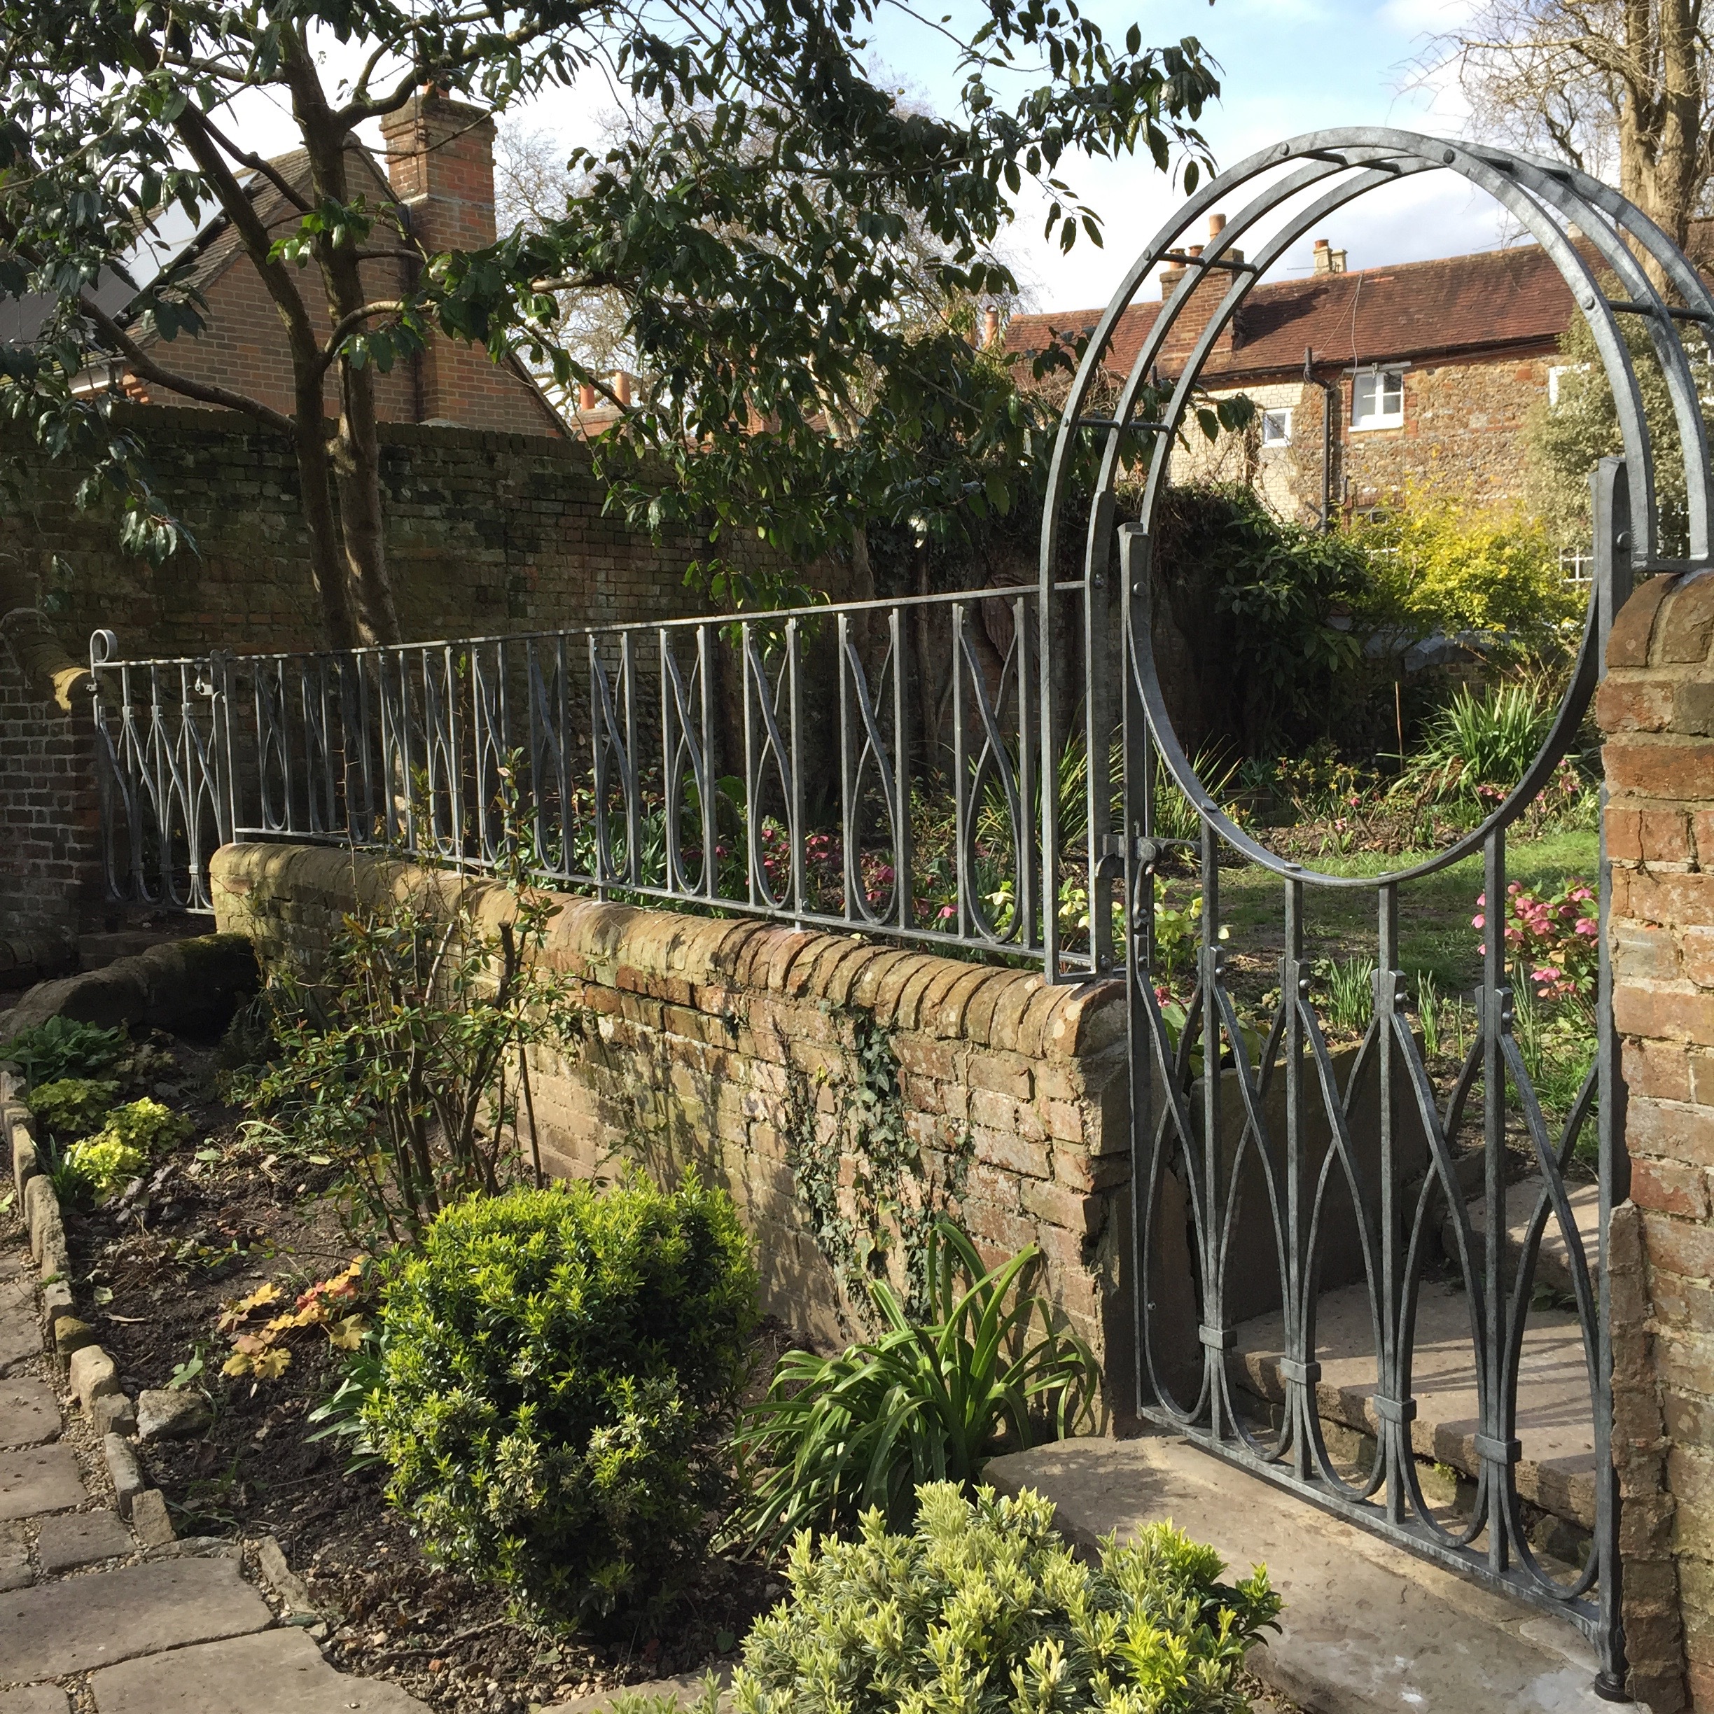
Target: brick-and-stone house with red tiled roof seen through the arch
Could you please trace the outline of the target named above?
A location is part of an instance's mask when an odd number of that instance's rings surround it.
[[[1210,226],[1219,231],[1224,218]],[[1162,298],[1181,276],[1183,267],[1162,269]],[[1227,285],[1212,279],[1203,314],[1193,300],[1179,319],[1164,375],[1183,372]],[[1124,312],[1107,365],[1116,375],[1159,312],[1159,302]],[[1345,271],[1344,252],[1318,240],[1315,273],[1258,285],[1203,365],[1212,393],[1256,401],[1260,432],[1207,451],[1193,434],[1176,458],[1196,473],[1251,480],[1282,516],[1306,521],[1321,512],[1323,461],[1333,511],[1412,483],[1483,502],[1519,499],[1525,420],[1555,391],[1572,312],[1570,290],[1534,243]],[[1099,315],[1015,315],[1004,341],[1037,353],[1092,331]]]

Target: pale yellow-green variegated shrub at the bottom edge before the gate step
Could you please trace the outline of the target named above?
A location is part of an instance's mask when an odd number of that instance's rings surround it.
[[[1171,1524],[1124,1546],[1109,1536],[1088,1565],[1028,1489],[1003,1500],[932,1483],[910,1510],[908,1534],[888,1534],[876,1510],[857,1541],[797,1539],[790,1597],[744,1642],[734,1714],[1250,1705],[1244,1656],[1280,1611],[1267,1570],[1222,1584],[1220,1556]],[[716,1690],[698,1714],[715,1714]]]

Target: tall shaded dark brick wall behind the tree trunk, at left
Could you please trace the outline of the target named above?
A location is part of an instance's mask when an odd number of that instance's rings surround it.
[[[137,405],[115,415],[141,435],[158,490],[183,519],[195,552],[182,548],[165,566],[125,554],[117,509],[77,507],[75,468],[0,428],[0,458],[15,476],[15,506],[0,512],[0,571],[17,590],[7,608],[57,593],[67,605],[53,629],[75,660],[87,660],[96,627],[115,631],[127,658],[319,648],[290,446],[219,411]],[[584,446],[428,423],[382,425],[381,434],[387,559],[406,638],[555,631],[706,610],[684,584],[686,566],[706,554],[706,540],[655,543],[603,516]],[[57,560],[69,567],[63,588]],[[835,595],[843,593],[842,576],[833,566],[811,572]],[[72,884],[55,864],[91,872],[94,776],[69,761],[87,754],[87,701],[79,698],[62,713],[22,691],[7,698],[0,749],[9,764],[51,752],[53,766],[70,771],[57,773],[53,806],[41,802],[43,787],[26,792],[29,811],[48,819],[0,855],[0,938],[48,920],[69,938],[87,914],[87,884]],[[21,816],[24,807],[7,812]]]

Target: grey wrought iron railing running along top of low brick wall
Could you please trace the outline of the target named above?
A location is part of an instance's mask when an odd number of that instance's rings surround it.
[[[1054,660],[1083,593],[1051,596]],[[1042,608],[1030,586],[135,662],[96,632],[108,884],[204,910],[216,845],[302,840],[1087,974],[1111,934],[1092,953],[1085,908],[1061,934],[1058,898],[1112,866],[1088,792],[1061,828],[1083,734],[1040,723],[1078,703]]]

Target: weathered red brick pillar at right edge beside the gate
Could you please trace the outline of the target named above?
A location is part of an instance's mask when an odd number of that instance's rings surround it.
[[[1627,1639],[1656,1714],[1714,1711],[1714,572],[1613,626],[1606,734],[1613,1022],[1630,1198],[1613,1215]]]

